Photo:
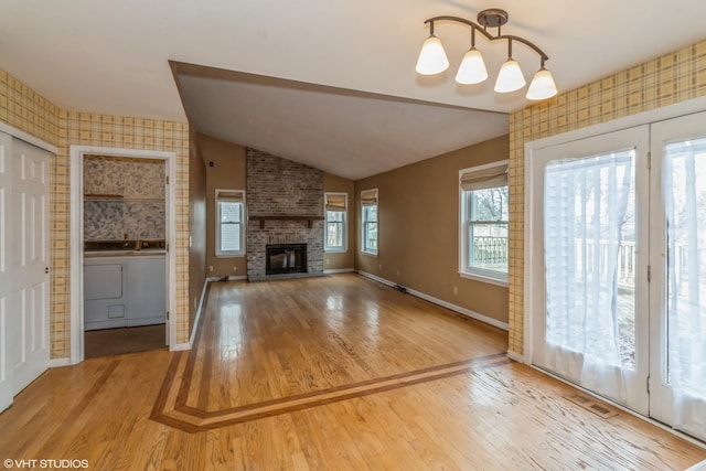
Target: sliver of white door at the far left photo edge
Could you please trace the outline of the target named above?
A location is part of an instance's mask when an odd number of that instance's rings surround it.
[[[12,300],[12,137],[0,132],[0,410],[12,404],[12,332],[10,302]]]

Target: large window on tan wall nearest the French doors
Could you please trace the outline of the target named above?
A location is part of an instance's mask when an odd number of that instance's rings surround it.
[[[461,170],[461,275],[507,282],[507,161]]]

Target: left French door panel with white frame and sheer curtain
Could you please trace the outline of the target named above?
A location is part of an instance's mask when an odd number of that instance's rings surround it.
[[[535,150],[533,363],[649,414],[649,128]]]

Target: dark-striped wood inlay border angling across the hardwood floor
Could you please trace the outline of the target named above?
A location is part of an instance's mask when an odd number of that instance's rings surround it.
[[[206,301],[203,307],[204,314],[208,312],[208,295],[210,286],[206,290]],[[208,374],[204,373],[210,371],[207,366],[212,362],[211,354],[206,352],[201,353],[200,356],[200,349],[197,349],[197,345],[205,341],[202,338],[204,319],[205,315],[202,315],[199,321],[192,350],[174,354],[150,415],[151,420],[188,432],[205,431],[280,414],[320,407],[327,404],[381,394],[512,363],[505,353],[495,353],[238,407],[208,410],[204,394],[199,395],[195,405],[188,404],[190,392],[206,390],[211,381]],[[199,382],[194,383],[197,372],[205,377],[200,377]]]

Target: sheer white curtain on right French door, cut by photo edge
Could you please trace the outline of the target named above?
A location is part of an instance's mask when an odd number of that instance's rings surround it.
[[[667,144],[667,379],[674,426],[706,420],[706,139]],[[700,419],[699,419],[700,417]],[[696,420],[696,422],[695,422]],[[698,424],[700,420],[700,424]]]

